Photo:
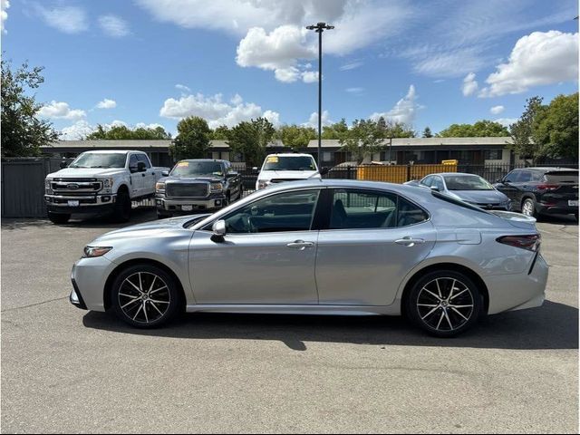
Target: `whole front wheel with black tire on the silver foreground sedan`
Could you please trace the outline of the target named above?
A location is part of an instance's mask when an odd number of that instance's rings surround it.
[[[131,300],[135,302],[131,303]],[[175,278],[158,266],[130,266],[111,285],[114,314],[137,328],[155,328],[167,324],[179,314],[182,306],[182,296]]]

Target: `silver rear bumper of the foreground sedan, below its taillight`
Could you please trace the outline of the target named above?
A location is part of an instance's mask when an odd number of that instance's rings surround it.
[[[547,274],[546,260],[538,255],[533,266],[521,274],[486,276],[484,281],[489,293],[488,314],[523,310],[544,304]]]

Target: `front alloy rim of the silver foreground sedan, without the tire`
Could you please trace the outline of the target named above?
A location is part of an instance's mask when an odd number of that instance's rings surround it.
[[[171,294],[160,275],[137,272],[121,283],[118,301],[122,313],[133,322],[151,324],[167,314]]]

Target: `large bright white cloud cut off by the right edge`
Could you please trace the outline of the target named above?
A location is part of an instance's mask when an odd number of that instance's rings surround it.
[[[556,30],[520,38],[507,63],[488,76],[480,97],[526,92],[533,86],[578,79],[578,34]]]

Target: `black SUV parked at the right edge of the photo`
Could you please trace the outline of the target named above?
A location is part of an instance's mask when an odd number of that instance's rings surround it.
[[[514,210],[536,218],[569,214],[578,220],[578,169],[514,169],[495,188],[512,201]]]

